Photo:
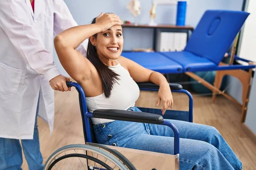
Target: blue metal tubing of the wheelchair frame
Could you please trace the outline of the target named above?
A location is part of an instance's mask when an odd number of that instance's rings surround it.
[[[69,87],[75,87],[76,90],[79,93],[79,102],[80,102],[80,110],[81,110],[81,116],[82,116],[82,123],[83,123],[83,129],[84,129],[84,140],[85,142],[92,142],[91,139],[91,132],[90,132],[90,122],[89,118],[94,117],[93,113],[87,111],[87,105],[86,105],[86,99],[85,99],[85,93],[84,89],[76,82],[67,82],[67,85]],[[140,88],[140,90],[144,91],[158,91],[158,89],[155,88]],[[172,90],[172,92],[176,93],[184,93],[189,97],[189,111],[171,111],[167,110],[166,112],[173,112],[173,113],[179,113],[179,112],[186,112],[189,116],[189,122],[193,122],[193,99],[192,95],[189,93],[189,91],[186,91],[184,89],[180,90]],[[160,109],[155,109],[160,110]],[[140,114],[140,112],[138,112]],[[145,113],[143,113],[145,114]],[[151,113],[148,113],[151,114]],[[154,113],[156,114],[156,113]],[[165,114],[165,119],[172,119],[172,116],[168,116],[168,114]],[[120,119],[121,120],[121,119]],[[143,122],[143,121],[142,121]],[[144,121],[147,123],[146,121]],[[172,128],[174,132],[174,155],[177,155],[180,153],[180,137],[179,137],[179,131],[175,125],[173,125],[171,122],[163,120],[163,122],[160,125],[166,125]]]

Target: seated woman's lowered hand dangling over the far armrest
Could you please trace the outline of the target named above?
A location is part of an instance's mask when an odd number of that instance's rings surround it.
[[[158,106],[161,101],[163,103],[162,114],[164,115],[164,113],[166,112],[166,109],[168,108],[172,109],[172,106],[173,106],[172,92],[169,84],[160,85],[156,106]]]

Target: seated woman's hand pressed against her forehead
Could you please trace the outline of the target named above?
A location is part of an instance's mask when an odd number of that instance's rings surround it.
[[[96,18],[96,24],[100,26],[102,29],[102,32],[108,30],[108,28],[111,28],[115,25],[122,25],[122,20],[116,15],[116,14],[103,14],[101,13]]]

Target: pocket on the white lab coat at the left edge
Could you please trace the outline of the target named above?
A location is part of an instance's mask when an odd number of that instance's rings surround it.
[[[22,70],[12,68],[0,62],[0,91],[14,94],[20,84]]]

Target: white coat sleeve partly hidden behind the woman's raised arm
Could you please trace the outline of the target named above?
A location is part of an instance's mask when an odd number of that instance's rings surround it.
[[[54,10],[54,35],[59,34],[68,28],[78,26],[70,13],[64,0],[53,0]],[[86,57],[88,39],[84,40],[76,49]]]

